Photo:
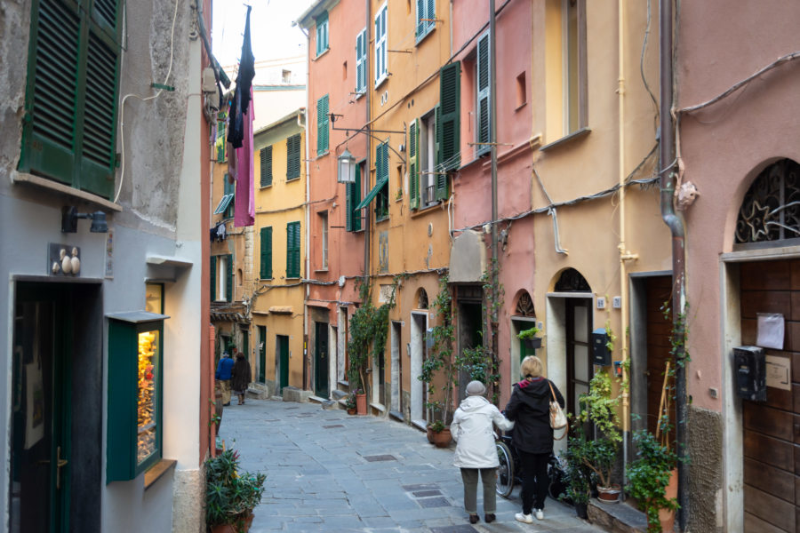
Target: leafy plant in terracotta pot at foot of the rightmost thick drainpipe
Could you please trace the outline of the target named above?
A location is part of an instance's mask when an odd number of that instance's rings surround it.
[[[676,453],[646,429],[634,432],[633,442],[638,451],[636,460],[628,465],[628,494],[635,497],[647,515],[647,532],[672,531],[678,508]],[[674,485],[669,494],[669,485]]]

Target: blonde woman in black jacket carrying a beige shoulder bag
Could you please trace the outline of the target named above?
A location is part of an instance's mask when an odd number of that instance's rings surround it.
[[[528,355],[523,359],[520,373],[525,378],[514,386],[505,410],[506,418],[515,421],[511,442],[519,454],[523,481],[523,512],[516,513],[515,518],[528,524],[533,522],[532,513],[537,519],[544,519],[542,510],[548,496],[548,460],[553,453],[553,428],[550,427],[553,394],[564,409],[561,391],[541,372],[539,357]]]

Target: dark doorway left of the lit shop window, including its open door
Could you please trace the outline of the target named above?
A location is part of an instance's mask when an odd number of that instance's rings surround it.
[[[99,530],[100,284],[20,282],[16,292],[9,531]]]

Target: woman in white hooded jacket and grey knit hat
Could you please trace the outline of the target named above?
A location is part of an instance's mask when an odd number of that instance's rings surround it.
[[[500,410],[486,400],[484,394],[486,387],[483,383],[470,381],[467,386],[467,398],[460,403],[459,409],[453,414],[450,425],[452,438],[458,442],[453,465],[461,469],[461,479],[464,481],[464,509],[469,513],[469,522],[473,524],[478,521],[478,473],[484,485],[484,520],[489,523],[495,519],[497,495],[494,488],[500,461],[497,459],[492,423],[503,431],[514,427],[514,422],[500,414]]]

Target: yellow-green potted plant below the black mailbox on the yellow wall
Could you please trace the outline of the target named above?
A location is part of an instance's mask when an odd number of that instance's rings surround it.
[[[612,483],[612,469],[622,442],[617,417],[620,398],[612,395],[612,378],[608,373],[597,372],[589,382],[588,394],[582,394],[579,402],[578,420],[581,424],[593,424],[597,430],[594,440],[581,435],[585,452],[583,462],[596,475],[600,501],[616,503],[622,492],[619,484]]]

